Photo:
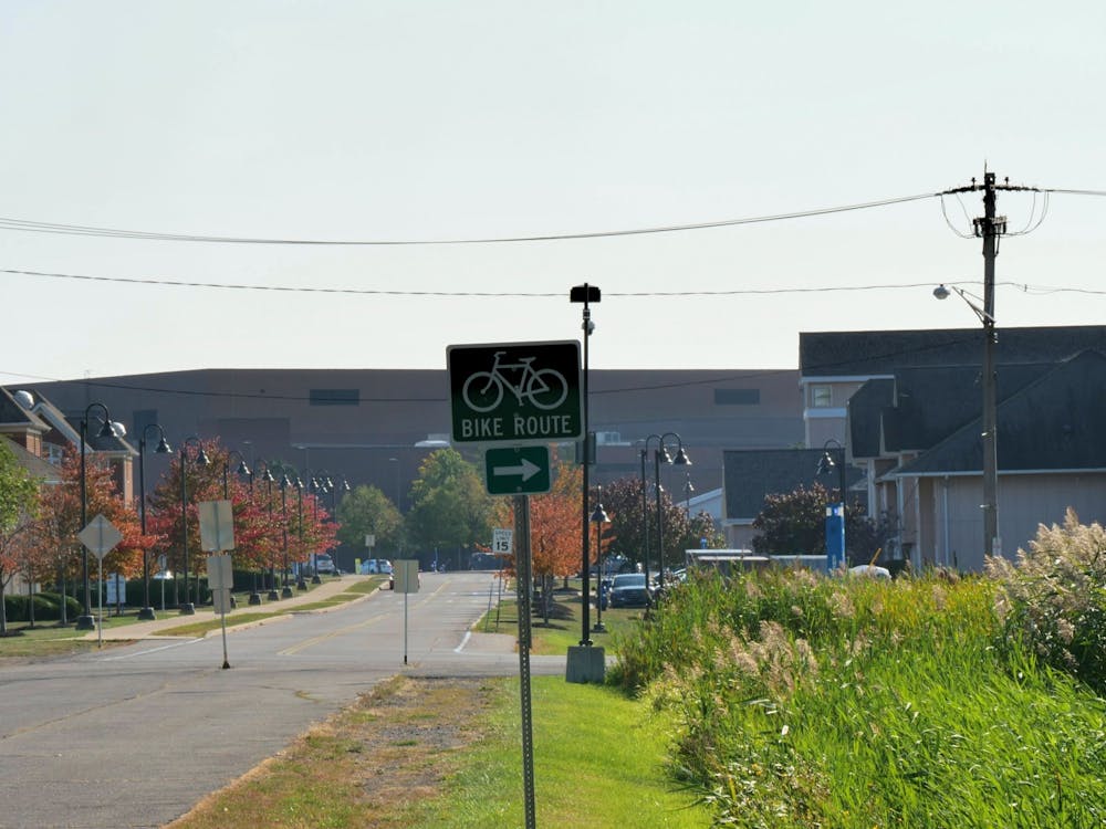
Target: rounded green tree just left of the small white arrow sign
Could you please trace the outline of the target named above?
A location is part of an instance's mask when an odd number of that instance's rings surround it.
[[[422,461],[411,484],[408,538],[424,549],[487,544],[492,507],[476,466],[455,449],[439,449]]]

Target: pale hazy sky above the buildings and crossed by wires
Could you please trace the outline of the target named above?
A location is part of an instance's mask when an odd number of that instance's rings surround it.
[[[902,6],[3,0],[0,217],[407,242],[842,207],[967,185],[984,164],[1106,190],[1106,6]],[[999,197],[1011,231],[1044,206]],[[961,232],[982,214],[978,193],[945,207]],[[1000,328],[1106,323],[1106,295],[1079,293],[1106,291],[1106,198],[1047,208],[1002,241]],[[0,222],[0,382],[445,368],[448,345],[578,337],[583,282],[604,293],[595,368],[793,368],[801,330],[978,325],[931,290],[980,292],[980,250],[936,198],[426,246]],[[718,295],[764,291],[783,293]],[[520,293],[552,296],[504,296]]]

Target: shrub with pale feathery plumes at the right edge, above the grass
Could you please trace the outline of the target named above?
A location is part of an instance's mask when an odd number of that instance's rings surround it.
[[[1002,647],[1024,642],[1046,664],[1106,693],[1106,529],[1068,510],[1063,526],[1043,524],[1016,562],[992,558],[1001,585]]]

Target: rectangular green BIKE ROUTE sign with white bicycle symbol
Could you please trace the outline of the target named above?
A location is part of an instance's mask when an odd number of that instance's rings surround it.
[[[550,443],[583,434],[580,344],[449,346],[455,443]]]

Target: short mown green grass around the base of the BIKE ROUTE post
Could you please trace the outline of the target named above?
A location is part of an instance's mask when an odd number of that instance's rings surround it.
[[[523,825],[518,680],[497,681],[489,733],[460,758],[442,796],[403,810],[397,826],[484,829]],[[539,826],[692,829],[709,812],[666,772],[666,725],[641,702],[597,685],[532,683]]]

